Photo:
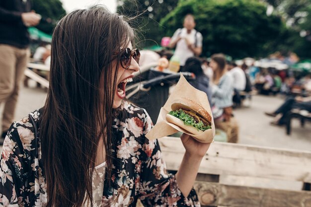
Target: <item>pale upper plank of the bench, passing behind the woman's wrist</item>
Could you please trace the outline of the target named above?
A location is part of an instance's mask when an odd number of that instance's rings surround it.
[[[169,170],[178,170],[184,147],[179,138],[160,138]],[[311,152],[214,142],[199,173],[238,175],[311,183]]]

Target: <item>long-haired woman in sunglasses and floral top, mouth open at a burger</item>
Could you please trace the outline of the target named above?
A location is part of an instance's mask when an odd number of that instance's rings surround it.
[[[102,7],[56,26],[45,106],[12,124],[0,160],[0,206],[199,206],[192,189],[209,144],[183,135],[185,155],[166,174],[152,122],[124,100],[139,70],[133,29]],[[178,187],[177,187],[178,186]]]

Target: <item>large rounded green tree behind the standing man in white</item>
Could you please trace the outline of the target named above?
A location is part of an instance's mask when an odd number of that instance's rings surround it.
[[[171,36],[182,27],[182,18],[192,13],[203,35],[203,56],[225,53],[233,58],[265,57],[286,28],[280,17],[266,15],[258,0],[180,0],[161,20]]]

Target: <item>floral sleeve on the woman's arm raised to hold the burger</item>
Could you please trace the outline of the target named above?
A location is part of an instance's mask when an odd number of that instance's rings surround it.
[[[147,114],[147,112],[146,112]],[[144,135],[152,126],[151,118],[146,116]],[[166,172],[166,165],[157,140],[145,139],[143,145],[140,179],[140,200],[145,207],[200,207],[194,189],[186,198],[177,186],[175,176]]]

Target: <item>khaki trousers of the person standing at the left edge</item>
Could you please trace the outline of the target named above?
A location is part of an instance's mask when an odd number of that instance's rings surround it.
[[[14,121],[19,87],[29,55],[29,49],[0,44],[0,104],[4,103],[2,131],[8,130]]]

